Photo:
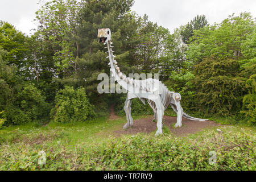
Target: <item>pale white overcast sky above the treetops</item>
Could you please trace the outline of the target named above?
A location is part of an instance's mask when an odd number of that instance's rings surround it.
[[[0,20],[5,20],[26,33],[35,28],[32,22],[39,0],[0,0]],[[43,0],[47,1],[47,0]],[[135,0],[131,10],[138,15],[147,14],[152,22],[169,28],[186,24],[197,14],[204,14],[210,24],[220,23],[228,15],[248,11],[255,18],[256,0]]]

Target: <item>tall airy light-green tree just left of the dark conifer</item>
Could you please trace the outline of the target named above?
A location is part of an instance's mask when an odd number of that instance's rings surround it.
[[[38,34],[53,51],[53,61],[60,78],[72,75],[76,71],[76,56],[79,44],[76,38],[76,0],[54,0],[45,3],[36,12],[39,27]]]

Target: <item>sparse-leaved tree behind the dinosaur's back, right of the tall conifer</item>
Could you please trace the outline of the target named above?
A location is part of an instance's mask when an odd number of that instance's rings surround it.
[[[133,64],[140,72],[159,73],[160,59],[166,56],[164,49],[169,35],[166,28],[150,22],[146,14],[138,18],[138,29],[133,35],[138,42],[131,53],[134,56]]]

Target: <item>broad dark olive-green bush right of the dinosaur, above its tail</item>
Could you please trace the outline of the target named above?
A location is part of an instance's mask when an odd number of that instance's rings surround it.
[[[221,117],[238,113],[246,93],[244,79],[236,74],[238,69],[237,61],[232,59],[204,59],[195,66],[193,84],[199,111]]]

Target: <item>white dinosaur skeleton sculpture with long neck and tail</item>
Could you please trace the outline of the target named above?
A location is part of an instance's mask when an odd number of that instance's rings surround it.
[[[155,135],[162,134],[162,119],[164,110],[170,105],[177,113],[177,123],[175,127],[182,126],[182,117],[191,119],[193,121],[206,121],[207,119],[194,118],[183,112],[180,105],[181,96],[179,93],[170,92],[167,87],[159,80],[147,78],[146,80],[134,80],[133,78],[126,77],[117,66],[117,61],[114,59],[111,42],[111,31],[109,28],[98,29],[98,38],[104,45],[107,44],[109,56],[110,72],[112,76],[124,89],[127,90],[127,97],[123,109],[126,113],[127,123],[123,129],[133,126],[133,118],[131,117],[131,101],[133,98],[139,98],[143,104],[147,100],[148,104],[154,111],[154,119],[157,121],[158,130]]]

